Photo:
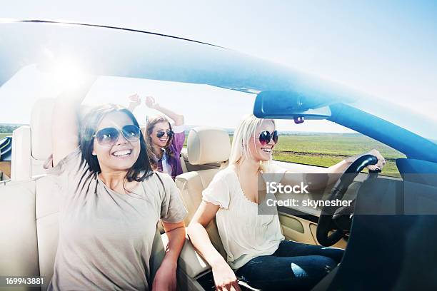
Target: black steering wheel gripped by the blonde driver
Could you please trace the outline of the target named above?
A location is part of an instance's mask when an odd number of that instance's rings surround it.
[[[344,193],[348,190],[349,185],[353,182],[353,179],[368,165],[375,165],[378,163],[378,158],[374,155],[363,155],[356,159],[349,167],[344,171],[341,177],[337,180],[333,186],[331,193],[326,201],[336,201],[343,198]],[[369,170],[368,179],[373,179],[378,176],[381,170]],[[331,205],[335,203],[331,203]],[[318,218],[316,237],[321,245],[326,247],[335,244],[338,240],[341,240],[343,236],[351,229],[351,221],[353,208],[355,206],[355,200],[352,201],[350,206],[342,207],[324,205],[321,210],[321,215]],[[337,214],[336,210],[342,208]],[[335,232],[329,234],[331,230]]]

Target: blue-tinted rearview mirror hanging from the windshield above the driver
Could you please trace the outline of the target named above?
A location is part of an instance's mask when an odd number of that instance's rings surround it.
[[[256,96],[253,115],[272,119],[326,119],[331,109],[326,99],[309,99],[290,91],[263,91]],[[296,122],[297,123],[297,122]]]

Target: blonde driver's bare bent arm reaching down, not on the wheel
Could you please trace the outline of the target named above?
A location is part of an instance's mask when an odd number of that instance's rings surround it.
[[[212,245],[206,232],[206,225],[209,225],[211,220],[214,219],[218,209],[218,205],[202,201],[189,224],[189,238],[194,247],[196,247],[196,250],[200,252],[200,255],[212,267],[217,290],[240,290],[236,275],[226,260],[223,259],[214,245]]]

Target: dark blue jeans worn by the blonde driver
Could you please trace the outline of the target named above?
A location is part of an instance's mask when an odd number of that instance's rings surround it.
[[[311,290],[343,257],[336,247],[283,240],[273,255],[261,255],[236,272],[251,287],[265,290]]]

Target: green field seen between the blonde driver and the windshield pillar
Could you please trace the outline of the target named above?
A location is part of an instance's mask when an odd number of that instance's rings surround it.
[[[383,143],[359,134],[281,135],[273,150],[273,158],[284,162],[328,167],[348,156],[366,153],[373,148],[379,150],[387,161],[381,175],[400,177],[395,160],[396,158],[405,158],[405,155]]]

